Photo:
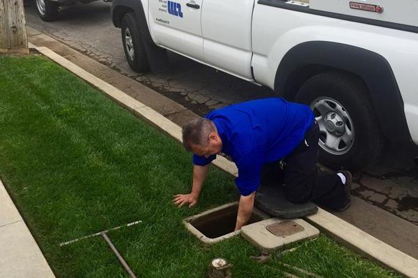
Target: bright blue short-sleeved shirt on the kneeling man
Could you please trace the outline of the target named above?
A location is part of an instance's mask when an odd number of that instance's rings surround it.
[[[222,152],[238,167],[235,184],[247,196],[260,185],[261,168],[290,154],[314,122],[309,106],[281,98],[258,99],[226,106],[206,115],[222,140]],[[193,156],[194,165],[207,165],[216,155]]]

